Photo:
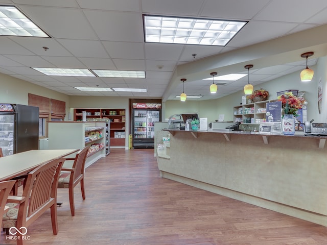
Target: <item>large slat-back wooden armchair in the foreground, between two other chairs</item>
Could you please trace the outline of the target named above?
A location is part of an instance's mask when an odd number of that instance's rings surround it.
[[[29,227],[50,208],[53,234],[57,235],[57,186],[64,161],[65,158],[57,158],[41,164],[28,174],[22,196],[8,198],[7,205],[11,203],[11,207],[2,220],[2,227],[6,228],[7,234],[11,227]],[[19,232],[16,235],[17,245],[26,244],[26,239],[22,239]]]

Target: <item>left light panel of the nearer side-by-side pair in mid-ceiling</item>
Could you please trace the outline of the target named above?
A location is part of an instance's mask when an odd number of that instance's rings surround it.
[[[68,68],[39,68],[32,67],[47,76],[68,76],[68,77],[96,77],[88,69],[68,69]]]

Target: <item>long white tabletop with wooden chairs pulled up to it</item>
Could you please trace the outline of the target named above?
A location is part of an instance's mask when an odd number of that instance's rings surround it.
[[[79,149],[31,150],[0,158],[0,181],[25,175],[42,163],[65,157]]]

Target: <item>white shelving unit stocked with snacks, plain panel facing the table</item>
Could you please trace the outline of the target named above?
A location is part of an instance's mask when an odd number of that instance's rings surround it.
[[[82,149],[85,145],[91,145],[85,162],[85,167],[88,167],[101,157],[106,156],[105,128],[106,122],[99,121],[51,121],[49,122],[49,149]],[[85,138],[90,134],[94,136],[92,137],[93,140],[86,142]],[[103,147],[100,149],[97,147],[99,145],[102,145]]]

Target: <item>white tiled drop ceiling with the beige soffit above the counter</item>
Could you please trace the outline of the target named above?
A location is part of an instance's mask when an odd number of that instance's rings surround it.
[[[0,72],[67,95],[178,100],[180,79],[186,78],[186,94],[203,95],[194,100],[217,99],[242,90],[248,77],[215,81],[225,84],[212,95],[212,81],[203,80],[212,71],[247,74],[244,65],[252,63],[250,80],[258,85],[305,68],[299,52],[315,52],[309,66],[326,55],[319,46],[326,34],[310,36],[310,30],[327,24],[325,0],[0,0],[0,5],[16,6],[51,37],[0,36]],[[226,46],[145,43],[144,14],[248,23]],[[306,33],[308,39],[299,38]],[[284,45],[283,38],[298,45]],[[31,67],[144,70],[146,79],[54,77]],[[147,92],[74,88],[97,86]]]

